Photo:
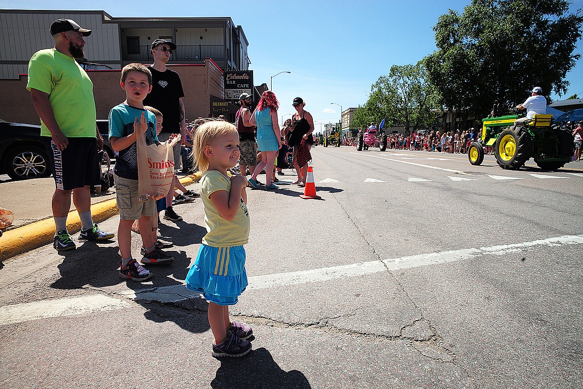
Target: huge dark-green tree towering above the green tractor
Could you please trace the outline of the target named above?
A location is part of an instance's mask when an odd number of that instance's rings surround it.
[[[521,103],[534,86],[564,94],[566,74],[580,55],[581,10],[566,0],[473,0],[449,10],[436,26],[438,50],[426,58],[428,76],[444,105],[482,117],[494,100]]]

